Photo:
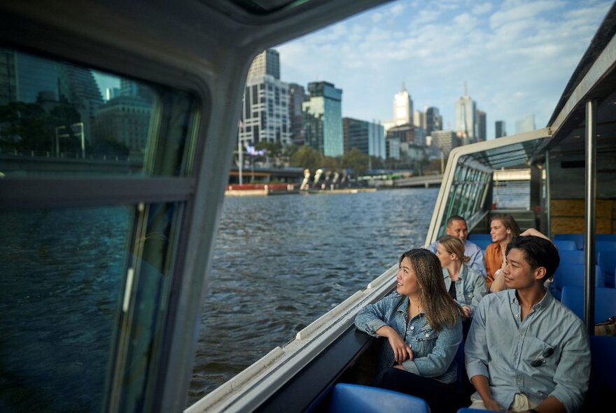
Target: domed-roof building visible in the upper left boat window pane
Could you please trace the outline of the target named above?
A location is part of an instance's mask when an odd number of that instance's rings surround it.
[[[119,96],[99,108],[94,123],[97,141],[125,144],[131,155],[146,151],[152,106],[139,96]]]

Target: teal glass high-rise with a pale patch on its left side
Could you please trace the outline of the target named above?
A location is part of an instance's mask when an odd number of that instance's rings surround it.
[[[309,99],[302,104],[304,144],[325,156],[342,156],[342,89],[332,83],[308,84]]]

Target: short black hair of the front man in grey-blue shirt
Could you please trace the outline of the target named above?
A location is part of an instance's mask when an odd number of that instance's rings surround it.
[[[545,268],[543,281],[554,275],[561,262],[556,246],[549,239],[542,237],[535,237],[534,235],[513,237],[511,242],[507,244],[505,255],[511,251],[511,248],[517,248],[524,252],[524,258],[531,269]]]

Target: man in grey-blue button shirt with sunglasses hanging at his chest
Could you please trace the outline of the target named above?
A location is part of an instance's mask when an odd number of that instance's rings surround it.
[[[514,237],[502,270],[507,290],[475,310],[465,364],[477,392],[471,408],[576,412],[590,374],[586,328],[546,290],[559,254],[548,239]]]

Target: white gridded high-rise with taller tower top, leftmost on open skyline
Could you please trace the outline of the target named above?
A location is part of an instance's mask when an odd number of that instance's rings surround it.
[[[260,141],[290,144],[289,85],[279,79],[276,50],[260,53],[248,70],[239,139],[242,146]]]

